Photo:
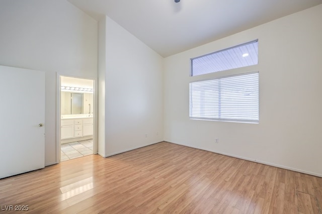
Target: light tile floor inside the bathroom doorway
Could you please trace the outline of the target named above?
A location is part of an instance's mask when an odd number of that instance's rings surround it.
[[[61,144],[60,161],[93,154],[93,139]]]

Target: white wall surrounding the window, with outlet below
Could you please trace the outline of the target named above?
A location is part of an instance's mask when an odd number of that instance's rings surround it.
[[[165,59],[165,140],[322,176],[322,5]],[[260,123],[189,120],[190,58],[259,39]],[[205,78],[239,70],[205,75]],[[215,144],[215,138],[219,143]]]

